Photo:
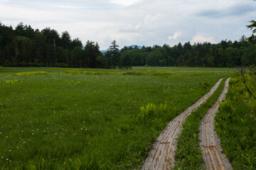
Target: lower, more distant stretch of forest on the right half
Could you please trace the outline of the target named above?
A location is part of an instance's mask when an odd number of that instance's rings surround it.
[[[129,57],[133,66],[239,67],[256,64],[256,38],[246,39],[242,35],[239,41],[222,40],[218,44],[204,42],[191,45],[191,42],[185,42],[174,47],[124,47],[121,57]]]

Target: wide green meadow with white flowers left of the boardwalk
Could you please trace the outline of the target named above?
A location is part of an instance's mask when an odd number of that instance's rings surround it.
[[[169,121],[233,71],[0,67],[0,169],[140,169]]]

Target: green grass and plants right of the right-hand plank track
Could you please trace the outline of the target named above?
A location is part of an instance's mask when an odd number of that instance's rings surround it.
[[[255,95],[255,76],[245,77]],[[215,117],[215,129],[233,169],[256,169],[256,100],[247,93],[240,76],[230,79],[227,98]]]

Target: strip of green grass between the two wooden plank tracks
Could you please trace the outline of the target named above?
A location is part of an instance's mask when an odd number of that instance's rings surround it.
[[[203,116],[213,106],[218,96],[220,96],[224,86],[225,79],[221,81],[218,89],[208,98],[206,103],[203,103],[198,110],[193,111],[185,123],[183,123],[181,135],[177,140],[178,145],[176,148],[174,169],[203,169],[201,166],[203,164],[203,158],[201,150],[198,148],[199,125]]]

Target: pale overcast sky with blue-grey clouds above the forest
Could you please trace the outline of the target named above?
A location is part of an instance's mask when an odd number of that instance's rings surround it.
[[[256,1],[250,0],[0,0],[0,21],[32,28],[50,27],[72,38],[124,45],[239,40],[252,31]]]

